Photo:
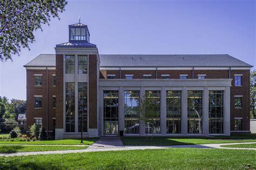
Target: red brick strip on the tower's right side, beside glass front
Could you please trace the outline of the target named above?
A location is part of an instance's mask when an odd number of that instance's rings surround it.
[[[89,129],[97,129],[97,56],[89,55]]]

